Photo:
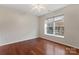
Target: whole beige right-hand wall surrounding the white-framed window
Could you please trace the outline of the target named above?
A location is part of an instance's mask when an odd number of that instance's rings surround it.
[[[44,34],[44,21],[55,15],[65,15],[65,38],[48,36]],[[70,16],[69,16],[70,15]],[[72,15],[72,16],[71,16]],[[77,15],[77,16],[76,16]],[[69,17],[69,18],[68,18]],[[76,19],[77,17],[77,19]],[[56,10],[52,13],[39,17],[40,19],[40,37],[47,40],[62,43],[68,46],[79,48],[79,5],[69,5],[63,9]]]

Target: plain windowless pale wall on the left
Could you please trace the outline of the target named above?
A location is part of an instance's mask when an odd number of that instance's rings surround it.
[[[0,45],[38,37],[38,18],[31,14],[0,8]]]

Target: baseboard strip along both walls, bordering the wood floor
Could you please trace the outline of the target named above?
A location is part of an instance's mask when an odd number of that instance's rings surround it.
[[[22,41],[26,41],[26,40],[33,40],[33,39],[36,39],[36,38],[42,38],[42,39],[49,40],[49,39],[44,38],[44,37],[33,36],[33,37],[29,37],[29,38],[22,39],[22,40],[18,40],[18,41],[13,41],[13,42],[9,42],[9,43],[5,43],[5,44],[1,44],[0,46],[9,45],[9,44],[13,44],[13,43],[18,43],[18,42],[22,42]],[[53,41],[53,40],[49,40],[49,41]],[[73,48],[76,48],[76,49],[79,49],[78,47],[76,47],[76,46],[72,46],[72,45],[70,45],[70,44],[61,43],[61,42],[56,42],[56,41],[53,41],[53,42],[58,43],[58,44],[62,44],[62,45],[65,45],[65,46],[73,47]]]

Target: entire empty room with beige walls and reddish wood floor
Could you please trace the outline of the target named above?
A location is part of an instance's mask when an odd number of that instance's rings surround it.
[[[0,4],[0,55],[79,55],[78,4]]]

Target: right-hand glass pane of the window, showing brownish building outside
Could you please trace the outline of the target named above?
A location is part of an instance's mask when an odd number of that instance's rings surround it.
[[[55,35],[64,36],[64,20],[55,21]]]

